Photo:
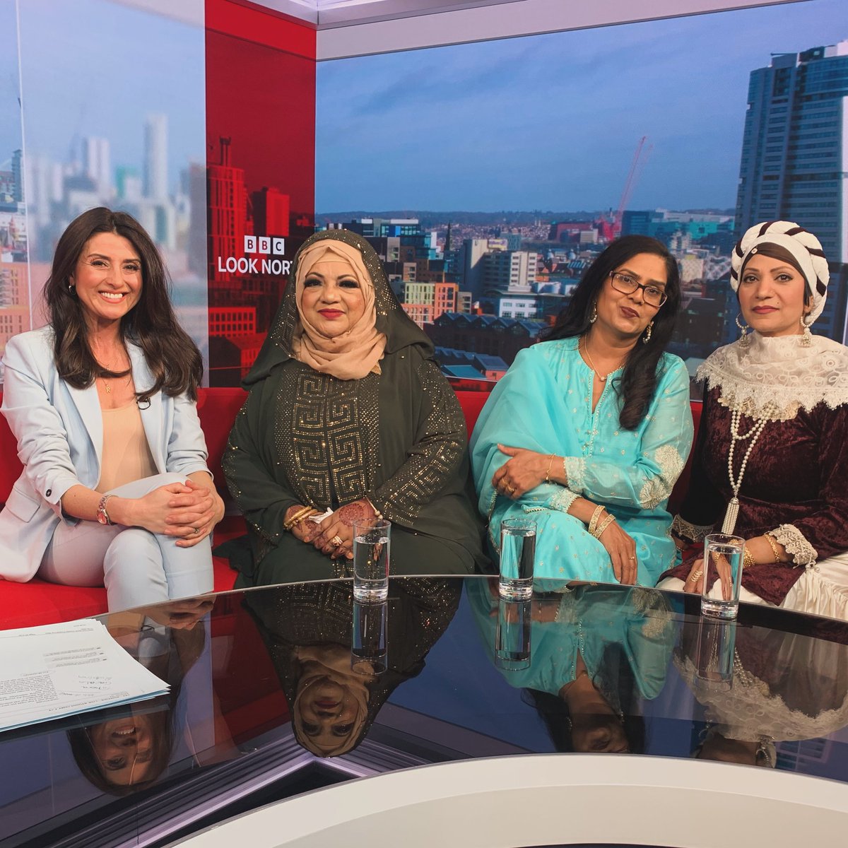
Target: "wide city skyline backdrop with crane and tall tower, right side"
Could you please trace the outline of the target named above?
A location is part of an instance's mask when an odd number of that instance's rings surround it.
[[[613,238],[655,237],[694,377],[738,334],[730,253],[757,220],[821,237],[815,331],[845,340],[846,105],[835,0],[321,64],[316,225],[368,237],[443,371],[488,382]]]

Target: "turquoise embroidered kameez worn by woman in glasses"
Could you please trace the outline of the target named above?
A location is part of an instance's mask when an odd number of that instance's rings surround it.
[[[471,463],[488,538],[499,551],[505,518],[537,522],[536,577],[615,583],[610,556],[583,522],[568,515],[574,499],[605,505],[636,542],[637,583],[654,586],[675,564],[668,496],[692,446],[689,374],[683,360],[663,354],[654,397],[635,430],[619,423],[621,371],[607,379],[592,410],[594,372],[577,338],[522,350],[483,407],[471,436]],[[492,486],[509,457],[498,444],[564,457],[568,486],[541,483],[517,500]]]

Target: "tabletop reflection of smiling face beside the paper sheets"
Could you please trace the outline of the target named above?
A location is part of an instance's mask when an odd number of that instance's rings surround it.
[[[153,766],[154,733],[146,715],[116,718],[88,728],[94,755],[110,784],[131,786],[145,779]]]

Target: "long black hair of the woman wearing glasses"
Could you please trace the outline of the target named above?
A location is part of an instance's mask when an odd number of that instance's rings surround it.
[[[624,373],[614,383],[616,391],[622,397],[622,410],[618,420],[626,430],[639,427],[639,422],[648,410],[656,388],[656,366],[674,332],[674,322],[680,308],[680,273],[677,259],[674,259],[656,238],[623,236],[616,239],[592,265],[589,265],[566,310],[545,337],[546,340],[572,338],[587,332],[591,326],[589,316],[594,309],[594,303],[611,271],[625,265],[637,254],[654,254],[665,260],[667,300],[656,311],[650,341],[645,344],[641,341],[636,343],[628,354]]]

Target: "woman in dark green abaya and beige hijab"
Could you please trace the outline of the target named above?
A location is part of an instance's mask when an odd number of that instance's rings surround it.
[[[393,573],[471,572],[485,560],[466,426],[432,343],[353,232],[310,237],[292,280],[223,461],[248,522],[237,585],[345,576],[354,520],[381,514]]]

